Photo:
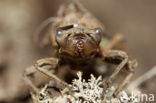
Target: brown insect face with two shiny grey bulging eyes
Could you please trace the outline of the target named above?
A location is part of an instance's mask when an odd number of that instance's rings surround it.
[[[56,31],[60,53],[78,58],[93,57],[97,53],[101,36],[100,28],[90,29],[74,25],[61,27]]]

